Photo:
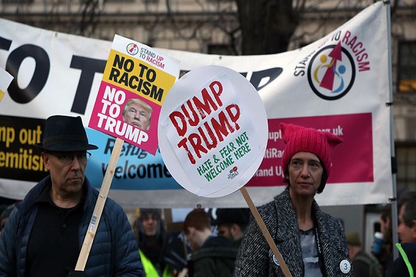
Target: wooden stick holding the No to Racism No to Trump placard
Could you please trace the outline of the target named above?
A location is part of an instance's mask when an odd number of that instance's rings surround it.
[[[110,190],[112,177],[114,176],[114,170],[116,169],[117,162],[119,161],[121,148],[123,147],[124,141],[117,138],[114,143],[114,148],[111,152],[110,162],[108,163],[107,170],[105,170],[105,175],[103,179],[103,184],[100,188],[100,193],[97,198],[96,206],[94,212],[92,213],[91,221],[85,234],[85,239],[83,242],[83,247],[80,251],[80,256],[78,256],[78,261],[76,262],[76,271],[84,271],[85,265],[87,264],[89,251],[92,247],[92,242],[94,241],[94,236],[98,228],[98,223],[100,223],[101,214],[103,213],[105,200],[107,199],[108,191]]]

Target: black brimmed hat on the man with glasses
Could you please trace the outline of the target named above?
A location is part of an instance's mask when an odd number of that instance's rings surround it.
[[[42,143],[36,146],[46,151],[85,151],[98,149],[88,143],[80,116],[49,116],[46,119]]]

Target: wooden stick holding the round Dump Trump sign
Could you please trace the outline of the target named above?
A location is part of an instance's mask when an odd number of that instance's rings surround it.
[[[284,273],[284,276],[286,277],[292,277],[291,271],[289,271],[286,262],[284,262],[283,258],[281,257],[281,254],[279,252],[279,249],[277,249],[277,246],[275,242],[273,241],[272,235],[270,235],[266,224],[264,224],[263,220],[261,219],[261,216],[259,214],[259,211],[257,211],[256,206],[254,206],[254,203],[252,202],[252,199],[250,195],[248,194],[248,191],[245,187],[240,188],[241,194],[243,195],[245,202],[247,202],[248,207],[250,208],[250,211],[252,212],[254,219],[257,221],[257,224],[259,224],[259,227],[261,229],[261,232],[263,232],[264,238],[266,238],[266,241],[269,244],[270,249],[272,249],[273,254],[275,254],[277,260],[279,261],[279,265],[281,267],[281,270]]]

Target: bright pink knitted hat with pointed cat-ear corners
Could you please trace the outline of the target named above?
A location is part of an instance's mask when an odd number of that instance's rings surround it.
[[[324,163],[328,177],[331,173],[331,150],[343,142],[339,136],[330,132],[322,132],[313,128],[305,128],[293,124],[280,123],[281,139],[286,144],[281,165],[286,170],[291,157],[297,152],[311,152]]]

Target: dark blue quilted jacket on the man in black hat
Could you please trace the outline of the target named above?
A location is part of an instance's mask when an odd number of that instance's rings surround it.
[[[12,211],[0,238],[0,277],[25,276],[26,250],[31,229],[37,215],[37,199],[51,188],[51,176],[34,186]],[[83,184],[85,202],[78,229],[81,249],[94,211],[98,191]],[[137,243],[123,208],[106,199],[94,243],[85,265],[86,276],[143,276]]]

